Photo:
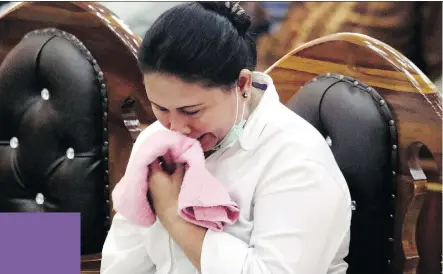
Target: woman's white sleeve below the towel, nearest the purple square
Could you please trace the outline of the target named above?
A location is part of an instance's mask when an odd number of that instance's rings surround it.
[[[143,242],[141,227],[117,213],[103,246],[100,273],[154,274],[155,265]]]

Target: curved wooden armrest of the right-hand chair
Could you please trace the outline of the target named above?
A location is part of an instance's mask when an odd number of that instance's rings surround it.
[[[429,222],[429,218],[435,219],[437,217],[435,214],[438,212],[433,211],[433,214],[429,215],[429,203],[426,201],[430,201],[432,197],[429,195],[433,192],[441,193],[441,184],[436,183],[441,180],[441,171],[438,168],[438,161],[435,161],[435,156],[421,142],[414,142],[408,147],[407,162],[411,176],[408,176],[409,179],[402,180],[403,186],[399,188],[401,189],[399,194],[405,203],[400,235],[403,264],[399,269],[403,274],[416,274],[424,271],[423,264],[429,264],[429,260],[432,265],[426,266],[426,271],[435,269],[434,244],[429,241],[430,238],[423,236],[428,233],[432,234],[438,229],[435,224]],[[435,240],[437,241],[437,238]],[[431,253],[432,257],[429,257]],[[419,266],[420,259],[422,262]]]

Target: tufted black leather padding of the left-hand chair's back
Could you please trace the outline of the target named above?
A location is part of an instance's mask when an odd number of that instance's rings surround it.
[[[80,212],[82,254],[109,228],[106,86],[72,35],[27,35],[0,66],[0,212]],[[0,232],[1,233],[1,232]]]

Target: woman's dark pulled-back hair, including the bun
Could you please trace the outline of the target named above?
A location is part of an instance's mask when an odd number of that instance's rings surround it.
[[[164,12],[139,50],[144,73],[172,74],[209,87],[232,87],[242,69],[255,70],[250,17],[235,2],[199,2]]]

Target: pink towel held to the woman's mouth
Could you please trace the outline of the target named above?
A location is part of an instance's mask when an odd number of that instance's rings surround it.
[[[148,166],[160,156],[186,164],[178,197],[180,216],[215,231],[237,221],[238,207],[224,186],[207,171],[200,143],[172,131],[152,134],[133,152],[123,178],[112,192],[116,212],[139,225],[154,224],[156,216],[146,198]]]

